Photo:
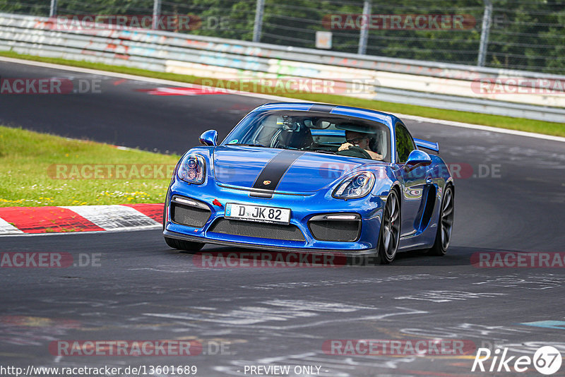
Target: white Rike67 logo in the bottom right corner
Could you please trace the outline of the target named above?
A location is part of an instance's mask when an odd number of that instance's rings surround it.
[[[549,376],[559,371],[561,361],[561,353],[552,346],[540,347],[535,351],[533,357],[508,356],[508,348],[503,350],[496,348],[494,352],[491,352],[488,348],[479,348],[475,361],[472,363],[471,371],[522,373],[531,371],[533,366],[539,373]]]

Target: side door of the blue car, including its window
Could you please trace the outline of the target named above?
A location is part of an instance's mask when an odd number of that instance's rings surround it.
[[[414,139],[408,129],[398,122],[395,126],[396,140],[396,163],[400,168],[400,177],[402,179],[403,201],[401,205],[402,225],[400,228],[400,237],[410,236],[417,232],[415,220],[417,217],[422,198],[424,187],[426,186],[427,167],[411,168],[405,165],[408,155],[412,150],[416,149]]]

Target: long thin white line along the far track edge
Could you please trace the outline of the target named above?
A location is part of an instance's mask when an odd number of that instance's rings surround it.
[[[163,84],[163,85],[176,85],[176,86],[180,86],[180,87],[184,87],[184,88],[214,89],[213,87],[209,87],[209,86],[189,84],[189,83],[181,83],[179,81],[173,81],[173,80],[163,80],[162,78],[149,78],[149,77],[143,77],[143,76],[129,75],[129,74],[126,74],[126,73],[98,71],[96,69],[90,69],[90,68],[79,68],[79,67],[73,67],[73,66],[64,66],[64,65],[61,65],[61,64],[42,63],[40,61],[13,59],[13,58],[7,58],[7,57],[4,57],[4,56],[0,56],[0,61],[6,61],[8,63],[16,63],[16,64],[27,64],[28,66],[40,66],[40,67],[43,67],[43,68],[61,69],[61,70],[64,70],[64,71],[71,71],[71,72],[90,73],[90,74],[93,74],[93,75],[100,75],[100,76],[126,78],[128,80],[145,81],[147,83],[155,83],[155,84]],[[232,92],[232,91],[230,91],[230,92]],[[311,102],[311,101],[298,100],[296,98],[278,97],[276,95],[264,95],[264,94],[261,94],[261,93],[233,91],[232,94],[244,95],[246,97],[264,98],[266,100],[283,101],[283,102]],[[444,124],[446,126],[472,128],[472,129],[477,129],[477,130],[482,130],[482,131],[508,133],[509,135],[525,136],[525,137],[528,137],[528,138],[538,138],[538,139],[544,139],[544,140],[554,140],[554,141],[560,141],[561,143],[565,143],[565,138],[561,138],[559,136],[544,135],[542,133],[516,131],[516,130],[510,130],[510,129],[506,129],[506,128],[481,126],[480,124],[470,124],[470,123],[463,123],[463,122],[458,122],[458,121],[444,121],[444,120],[441,120],[441,119],[424,118],[423,116],[415,116],[415,115],[408,115],[408,114],[398,114],[398,113],[395,113],[395,114],[398,117],[400,117],[401,119],[410,119],[410,120],[414,120],[414,121],[425,121],[425,122],[434,123],[434,124]],[[564,123],[565,123],[565,119],[564,119]]]

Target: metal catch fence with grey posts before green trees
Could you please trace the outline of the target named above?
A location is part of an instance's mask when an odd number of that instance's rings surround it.
[[[192,15],[175,31],[307,48],[324,31],[334,52],[565,73],[565,2],[554,0],[0,0],[0,11]]]

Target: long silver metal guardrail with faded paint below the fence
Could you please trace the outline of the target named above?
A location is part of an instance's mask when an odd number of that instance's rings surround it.
[[[564,88],[554,85],[565,84],[565,76],[155,30],[65,30],[65,25],[57,18],[0,13],[0,49],[225,80],[331,80],[335,85],[326,92],[334,94],[565,123]],[[545,80],[557,91],[533,92],[532,80]]]

